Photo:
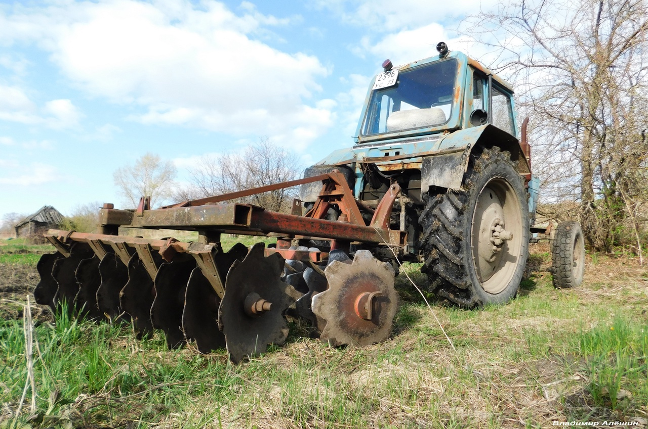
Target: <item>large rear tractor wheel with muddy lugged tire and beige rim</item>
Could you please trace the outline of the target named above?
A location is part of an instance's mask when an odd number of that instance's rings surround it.
[[[432,292],[462,307],[503,304],[518,292],[529,250],[524,182],[499,148],[471,155],[461,190],[430,192],[419,217],[422,272]]]

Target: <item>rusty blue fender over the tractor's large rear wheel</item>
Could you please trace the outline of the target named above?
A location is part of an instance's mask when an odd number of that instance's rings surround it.
[[[430,186],[459,190],[463,182],[463,173],[468,170],[470,153],[476,146],[498,146],[503,151],[509,151],[511,160],[518,161],[518,171],[531,173],[518,139],[496,126],[487,124],[461,129],[441,138],[437,146],[439,155],[432,154],[421,160],[421,192],[428,192]]]

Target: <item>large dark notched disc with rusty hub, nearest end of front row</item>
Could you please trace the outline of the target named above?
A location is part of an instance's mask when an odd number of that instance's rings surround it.
[[[279,254],[264,256],[263,243],[255,244],[243,261],[227,272],[225,295],[218,311],[218,323],[226,337],[227,351],[233,362],[263,353],[268,344],[283,344],[288,336],[284,311],[294,300],[280,280],[284,259]],[[272,303],[272,308],[249,316],[246,298],[256,293]]]

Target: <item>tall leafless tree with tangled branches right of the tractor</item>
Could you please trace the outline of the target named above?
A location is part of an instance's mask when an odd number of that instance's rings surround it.
[[[518,88],[543,193],[579,201],[596,250],[610,251],[629,235],[641,249],[647,1],[522,1],[467,22],[496,48],[494,68]]]

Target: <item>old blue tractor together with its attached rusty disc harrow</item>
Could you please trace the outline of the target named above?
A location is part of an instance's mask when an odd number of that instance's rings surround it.
[[[512,87],[443,42],[437,52],[403,67],[386,60],[355,145],[302,179],[156,209],[144,195],[135,210],[104,204],[100,234],[50,230],[57,251],[38,262],[36,301],[128,322],[141,337],[160,329],[168,347],[225,347],[240,362],[283,344],[289,318],[305,320],[311,336],[332,346],[386,340],[399,303],[393,268],[402,261],[422,263],[428,291],[456,305],[504,304],[518,293],[529,239],[548,238],[554,284],[578,285],[578,223],[554,234],[551,222],[535,224],[540,182],[527,120],[516,137]],[[478,98],[479,108],[461,107]],[[496,99],[507,109],[494,109]],[[290,214],[244,203],[297,186]],[[124,228],[199,239],[119,236]],[[224,252],[221,234],[276,243]]]

